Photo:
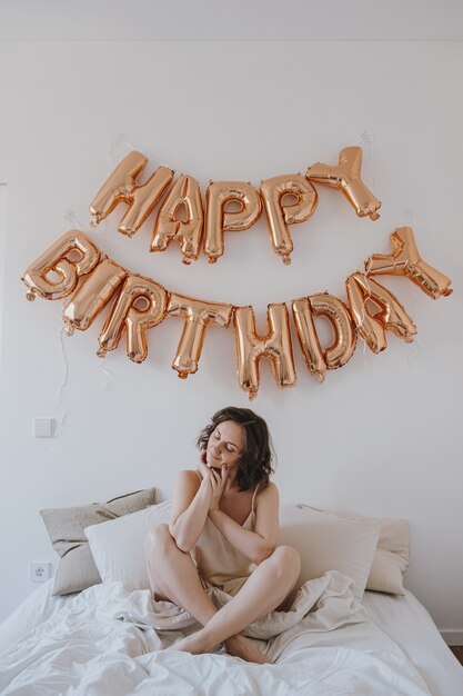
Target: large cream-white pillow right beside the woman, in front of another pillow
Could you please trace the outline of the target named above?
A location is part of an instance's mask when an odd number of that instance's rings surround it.
[[[293,546],[301,555],[299,584],[339,570],[354,581],[353,593],[362,598],[380,537],[378,520],[282,505],[280,525],[280,544]]]

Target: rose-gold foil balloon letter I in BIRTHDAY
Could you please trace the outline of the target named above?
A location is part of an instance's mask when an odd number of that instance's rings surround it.
[[[70,336],[74,329],[85,331],[114,295],[127,276],[127,270],[104,258],[93,272],[85,278],[74,295],[67,302],[62,312],[66,332]]]

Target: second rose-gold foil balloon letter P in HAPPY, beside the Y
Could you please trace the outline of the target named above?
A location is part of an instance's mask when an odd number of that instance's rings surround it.
[[[284,175],[262,181],[261,196],[273,250],[291,264],[293,242],[288,226],[311,217],[316,208],[316,191],[302,175]],[[285,196],[295,201],[285,203]]]

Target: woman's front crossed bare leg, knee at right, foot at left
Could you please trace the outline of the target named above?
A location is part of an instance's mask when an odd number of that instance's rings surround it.
[[[236,654],[240,643],[246,640],[239,635],[240,632],[281,605],[294,588],[300,569],[298,551],[291,546],[279,546],[253,571],[235,597],[215,612],[201,630],[172,647],[193,654],[210,653],[214,646],[225,642],[227,648],[230,647],[232,654]]]

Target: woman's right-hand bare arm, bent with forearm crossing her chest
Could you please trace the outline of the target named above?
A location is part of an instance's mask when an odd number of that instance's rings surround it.
[[[259,491],[255,500],[255,530],[243,529],[219,507],[209,511],[209,517],[232,546],[256,565],[269,558],[278,543],[279,493],[274,484]]]

